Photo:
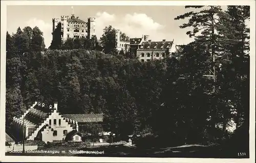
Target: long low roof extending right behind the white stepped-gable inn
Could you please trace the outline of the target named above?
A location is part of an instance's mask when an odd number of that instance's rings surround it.
[[[103,114],[66,114],[63,117],[76,122],[103,122]]]

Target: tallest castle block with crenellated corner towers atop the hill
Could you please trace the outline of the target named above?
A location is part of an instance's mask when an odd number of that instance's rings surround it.
[[[96,35],[96,19],[89,17],[88,21],[83,21],[74,14],[70,16],[60,16],[60,18],[52,19],[52,35],[53,40],[60,34],[61,40],[68,38],[88,38]],[[56,36],[57,35],[57,36]]]

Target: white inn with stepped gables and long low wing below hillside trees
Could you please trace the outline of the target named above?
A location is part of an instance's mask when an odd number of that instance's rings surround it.
[[[103,122],[103,114],[61,115],[57,102],[45,107],[44,103],[35,102],[21,117],[14,117],[12,134],[17,140],[81,141],[83,135],[79,126],[88,122]],[[23,130],[24,126],[24,130]]]

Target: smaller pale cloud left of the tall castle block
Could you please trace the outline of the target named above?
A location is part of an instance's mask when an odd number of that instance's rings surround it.
[[[26,22],[26,26],[30,26],[32,29],[37,26],[44,34],[46,48],[48,48],[52,42],[52,24],[40,20],[37,18],[29,19]]]

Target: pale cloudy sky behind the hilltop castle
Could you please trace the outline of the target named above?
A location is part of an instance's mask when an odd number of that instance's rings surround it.
[[[152,41],[174,40],[176,44],[187,44],[193,39],[186,35],[189,29],[179,25],[187,20],[174,20],[191,9],[184,6],[7,6],[7,31],[16,33],[17,28],[38,26],[44,33],[46,47],[52,40],[52,18],[71,15],[87,21],[96,17],[96,36],[99,39],[105,26],[112,25],[130,38],[149,35]],[[18,15],[17,15],[18,11]]]

